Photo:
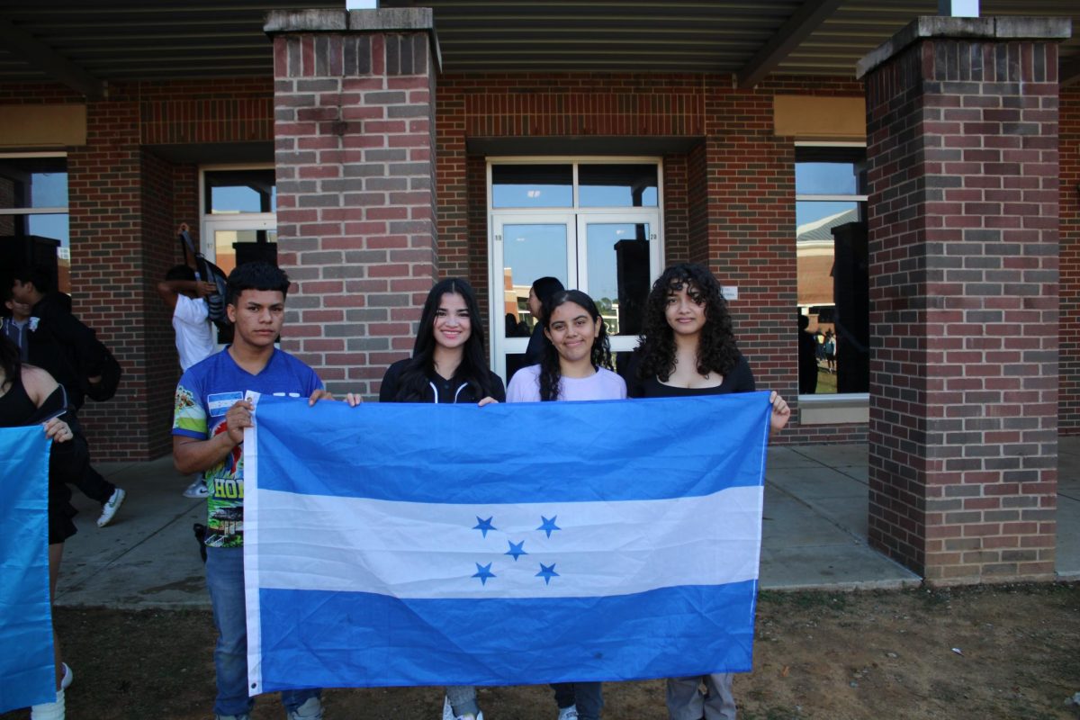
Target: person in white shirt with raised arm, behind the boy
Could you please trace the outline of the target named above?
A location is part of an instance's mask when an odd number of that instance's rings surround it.
[[[158,295],[173,311],[173,329],[176,331],[176,352],[185,371],[217,350],[210,309],[203,299],[217,291],[213,283],[195,280],[195,272],[186,264],[178,264],[165,273],[158,283]],[[198,473],[185,498],[206,498],[206,480]]]

